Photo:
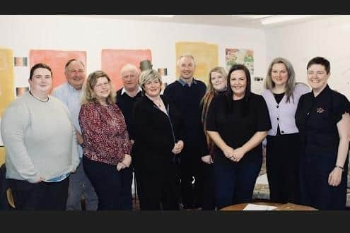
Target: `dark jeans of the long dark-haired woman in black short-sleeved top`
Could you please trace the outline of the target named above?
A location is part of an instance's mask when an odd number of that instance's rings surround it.
[[[221,209],[252,201],[255,181],[262,167],[262,155],[240,162],[214,162],[216,206]]]

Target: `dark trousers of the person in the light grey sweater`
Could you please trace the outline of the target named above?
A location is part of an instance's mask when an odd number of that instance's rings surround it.
[[[30,183],[8,179],[16,210],[66,210],[69,178],[59,182]]]

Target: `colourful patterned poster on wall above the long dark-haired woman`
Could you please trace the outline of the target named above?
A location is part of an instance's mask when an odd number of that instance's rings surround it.
[[[252,49],[226,49],[226,68],[230,70],[235,64],[247,66],[250,76],[254,76],[254,54]]]

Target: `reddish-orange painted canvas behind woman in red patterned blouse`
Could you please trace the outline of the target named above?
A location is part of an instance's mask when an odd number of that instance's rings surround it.
[[[115,91],[122,88],[120,69],[127,63],[134,64],[137,68],[142,60],[152,61],[151,49],[102,49],[102,70],[112,79]]]

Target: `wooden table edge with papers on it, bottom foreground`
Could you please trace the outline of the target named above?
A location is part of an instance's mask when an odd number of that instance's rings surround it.
[[[277,208],[274,210],[317,210],[313,207],[306,206],[306,205],[296,205],[293,203],[281,204],[281,203],[267,203],[267,202],[240,203],[236,205],[226,206],[220,210],[243,210],[245,206],[247,206],[248,204],[276,206]]]

